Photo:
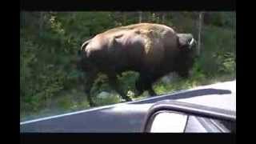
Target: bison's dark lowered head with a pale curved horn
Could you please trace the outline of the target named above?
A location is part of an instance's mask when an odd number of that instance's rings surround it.
[[[196,57],[196,40],[192,34],[177,34],[179,54],[177,57],[176,70],[178,75],[187,78]]]

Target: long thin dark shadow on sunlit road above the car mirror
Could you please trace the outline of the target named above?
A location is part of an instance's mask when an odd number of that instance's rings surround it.
[[[182,94],[162,94],[162,95],[152,97],[154,99],[145,100],[142,102],[133,102],[133,104],[154,103],[154,102],[158,102],[166,99],[193,98],[193,97],[206,96],[211,94],[231,94],[231,91],[221,90],[221,89],[189,90],[189,91],[183,92]],[[166,97],[158,98],[160,96],[165,96],[165,95]]]

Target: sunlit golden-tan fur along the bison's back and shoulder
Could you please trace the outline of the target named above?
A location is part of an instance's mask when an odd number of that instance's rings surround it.
[[[158,53],[163,53],[163,47],[158,46],[158,49],[154,49],[154,45],[161,45],[164,42],[164,38],[174,37],[176,34],[173,29],[168,26],[153,24],[153,23],[139,23],[130,26],[121,26],[114,29],[107,30],[102,34],[98,34],[98,37],[110,38],[111,42],[114,42],[117,38],[122,38],[127,34],[139,34],[145,43],[145,54],[148,55],[146,59],[150,61],[154,56],[158,57]],[[162,42],[160,42],[162,41]],[[153,55],[152,55],[153,54]],[[158,57],[159,58],[159,57]]]

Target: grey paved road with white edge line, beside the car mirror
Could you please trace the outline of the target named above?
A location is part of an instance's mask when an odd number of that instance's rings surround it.
[[[166,99],[236,110],[236,81],[21,122],[20,132],[141,132],[142,122],[150,106]]]

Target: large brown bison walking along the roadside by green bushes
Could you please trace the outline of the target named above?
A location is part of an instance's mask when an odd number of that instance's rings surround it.
[[[187,78],[194,63],[195,44],[192,34],[178,34],[169,26],[154,23],[117,27],[83,42],[78,69],[86,73],[84,90],[90,106],[95,106],[90,89],[99,72],[107,75],[110,86],[126,101],[131,98],[117,82],[117,75],[124,71],[139,73],[136,95],[144,90],[156,95],[152,84],[170,72]]]

